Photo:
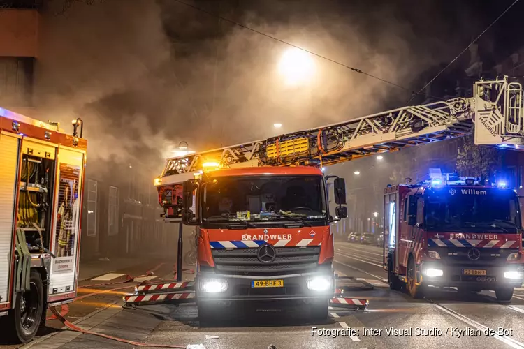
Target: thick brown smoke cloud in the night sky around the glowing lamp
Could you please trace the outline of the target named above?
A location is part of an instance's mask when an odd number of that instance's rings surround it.
[[[191,3],[403,86],[456,42],[442,42],[451,28],[421,38],[421,21],[408,24],[421,10],[442,20],[431,4],[406,15],[387,1],[372,10],[359,1]],[[291,132],[409,98],[318,57],[310,83],[287,87],[276,66],[289,47],[176,1],[73,2],[57,15],[63,5],[50,1],[43,13],[36,104],[48,119],[84,119],[90,161],[159,170],[182,140],[205,150],[275,135],[274,122]]]

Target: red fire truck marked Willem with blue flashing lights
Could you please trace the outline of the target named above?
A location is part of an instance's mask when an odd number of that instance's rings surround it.
[[[384,269],[392,289],[412,297],[430,286],[494,290],[509,302],[523,283],[521,213],[516,193],[430,170],[419,184],[384,195]]]

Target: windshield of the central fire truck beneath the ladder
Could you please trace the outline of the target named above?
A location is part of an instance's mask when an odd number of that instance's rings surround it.
[[[204,221],[325,221],[322,176],[217,177],[205,184]]]

